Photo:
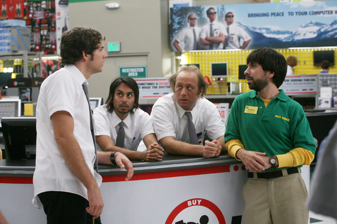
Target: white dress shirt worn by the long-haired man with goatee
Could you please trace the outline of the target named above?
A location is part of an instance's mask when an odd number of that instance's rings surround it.
[[[119,123],[122,121],[113,111],[109,113],[106,105],[94,111],[96,135],[107,135],[116,144]],[[129,112],[124,122],[124,148],[136,151],[139,142],[148,134],[154,133],[152,120],[147,112],[137,109]]]

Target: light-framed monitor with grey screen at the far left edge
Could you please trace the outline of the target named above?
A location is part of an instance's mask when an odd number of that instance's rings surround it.
[[[0,119],[2,117],[18,117],[21,115],[21,100],[0,100]]]

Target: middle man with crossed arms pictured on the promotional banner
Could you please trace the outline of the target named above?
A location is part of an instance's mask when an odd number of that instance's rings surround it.
[[[225,38],[228,35],[224,24],[215,21],[216,13],[213,7],[210,7],[206,11],[209,23],[200,31],[200,44],[204,50],[222,49]]]

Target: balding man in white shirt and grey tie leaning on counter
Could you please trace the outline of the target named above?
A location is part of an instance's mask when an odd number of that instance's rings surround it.
[[[169,154],[206,158],[224,152],[225,124],[215,105],[202,98],[208,84],[200,70],[193,65],[182,66],[170,77],[170,85],[174,93],[159,98],[151,112],[154,131],[164,149]],[[188,128],[189,112],[196,136]],[[213,141],[206,140],[204,146],[205,133]]]

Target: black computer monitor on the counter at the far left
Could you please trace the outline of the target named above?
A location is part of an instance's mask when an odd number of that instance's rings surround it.
[[[6,159],[35,159],[36,118],[2,117]]]

